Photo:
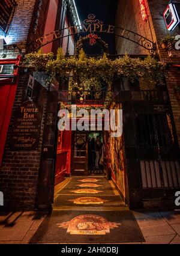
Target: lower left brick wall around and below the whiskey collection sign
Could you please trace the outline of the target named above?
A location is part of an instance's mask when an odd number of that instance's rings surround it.
[[[13,113],[8,129],[4,157],[0,169],[0,190],[4,193],[5,209],[33,210],[37,193],[38,172],[40,167],[41,146],[43,141],[44,118],[46,112],[46,90],[42,87],[38,104],[44,106],[41,123],[40,142],[37,151],[11,151],[9,146],[14,113],[20,106],[25,91],[27,75],[21,75],[14,100]]]

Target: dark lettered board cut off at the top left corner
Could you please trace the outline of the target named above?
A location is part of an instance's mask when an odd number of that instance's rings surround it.
[[[2,31],[6,32],[8,22],[10,20],[11,14],[16,6],[16,1],[14,0],[1,0],[0,1],[0,28]]]

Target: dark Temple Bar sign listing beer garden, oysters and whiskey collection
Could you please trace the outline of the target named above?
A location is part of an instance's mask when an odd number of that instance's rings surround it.
[[[30,101],[17,109],[10,138],[11,150],[38,149],[42,114],[43,106],[35,106]]]

